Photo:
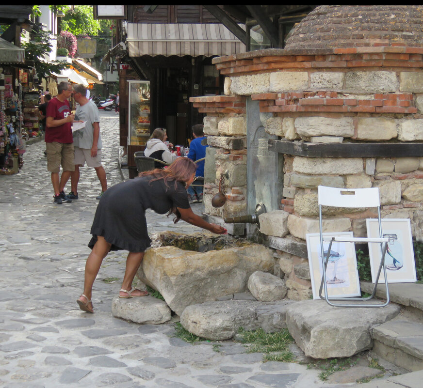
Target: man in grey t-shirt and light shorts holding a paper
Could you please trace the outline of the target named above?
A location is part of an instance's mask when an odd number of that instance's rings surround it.
[[[96,105],[86,97],[87,90],[82,84],[73,86],[73,97],[79,104],[75,112],[73,145],[75,148],[75,171],[70,177],[71,192],[67,195],[70,199],[78,199],[78,182],[80,167],[87,162],[88,167],[94,167],[101,184],[101,194],[107,190],[106,171],[101,164],[101,136],[100,116]],[[77,129],[79,128],[79,129]]]

